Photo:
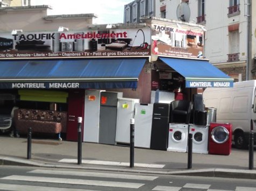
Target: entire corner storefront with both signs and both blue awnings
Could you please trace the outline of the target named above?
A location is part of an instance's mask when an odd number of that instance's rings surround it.
[[[191,100],[196,93],[191,89],[233,86],[233,79],[204,58],[204,31],[198,25],[150,19],[82,32],[3,34],[0,41],[1,92],[17,90],[19,101],[37,101],[35,109],[67,112],[63,133],[71,141],[76,117],[84,116],[87,89],[122,92],[150,103],[154,90],[184,93],[182,99]],[[47,91],[54,93],[48,97]],[[59,93],[63,99],[53,99]]]

